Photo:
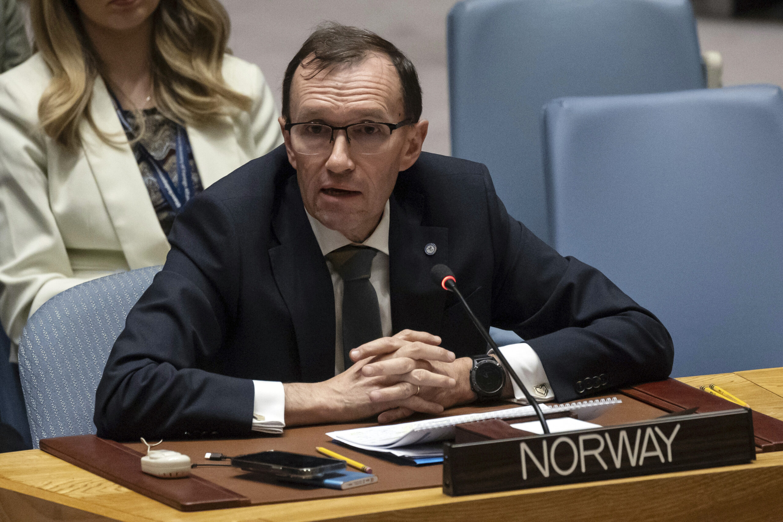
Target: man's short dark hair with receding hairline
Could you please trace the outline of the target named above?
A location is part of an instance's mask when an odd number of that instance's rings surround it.
[[[421,117],[421,85],[416,67],[407,56],[372,31],[359,27],[349,27],[341,23],[327,22],[316,27],[316,31],[302,44],[294,59],[286,67],[283,77],[283,117],[290,122],[290,90],[294,72],[301,64],[312,70],[310,77],[337,66],[347,66],[359,63],[368,55],[377,52],[388,56],[399,74],[402,84],[402,105],[405,108],[405,119],[414,123]],[[302,60],[311,56],[306,63]],[[391,121],[388,123],[397,123]]]

